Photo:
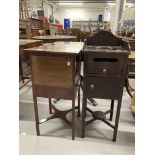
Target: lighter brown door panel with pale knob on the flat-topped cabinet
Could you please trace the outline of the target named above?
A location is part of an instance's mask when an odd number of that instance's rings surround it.
[[[72,86],[73,61],[65,57],[33,56],[32,82],[39,86]]]

